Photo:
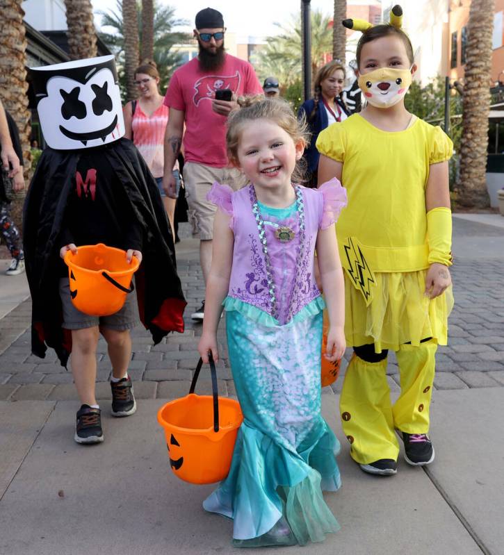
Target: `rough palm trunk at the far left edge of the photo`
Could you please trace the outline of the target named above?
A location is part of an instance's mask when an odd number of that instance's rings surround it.
[[[2,31],[0,40],[0,99],[19,129],[24,158],[24,177],[31,166],[31,114],[26,82],[26,38],[22,0],[0,0]]]

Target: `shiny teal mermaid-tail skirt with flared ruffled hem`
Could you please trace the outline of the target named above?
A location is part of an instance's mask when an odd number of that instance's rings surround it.
[[[236,547],[323,541],[339,524],[322,491],[341,479],[339,442],[320,415],[322,313],[261,326],[232,310],[226,324],[244,421],[229,474],[203,506],[233,519]]]

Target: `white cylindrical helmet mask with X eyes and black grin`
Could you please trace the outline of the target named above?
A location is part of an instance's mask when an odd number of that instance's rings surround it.
[[[32,67],[30,74],[49,147],[99,147],[124,135],[114,56]]]

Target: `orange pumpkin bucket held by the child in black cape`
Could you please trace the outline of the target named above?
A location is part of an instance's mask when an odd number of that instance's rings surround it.
[[[103,243],[67,251],[65,263],[70,277],[70,297],[75,308],[91,316],[108,316],[120,310],[126,295],[133,291],[131,278],[140,263],[126,251]]]

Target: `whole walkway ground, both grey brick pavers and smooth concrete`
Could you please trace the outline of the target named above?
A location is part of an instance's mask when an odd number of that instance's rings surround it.
[[[323,390],[323,414],[342,445],[343,488],[326,496],[342,529],[289,553],[504,553],[504,229],[497,219],[504,218],[466,216],[454,217],[456,305],[449,345],[437,357],[436,461],[421,470],[400,459],[389,479],[361,472],[339,424],[339,379]],[[143,329],[134,331],[129,372],[139,401],[126,419],[110,416],[110,363],[100,342],[97,392],[106,439],[92,447],[73,441],[78,402],[71,372],[52,352],[43,360],[30,354],[25,276],[0,276],[6,313],[0,313],[0,555],[236,552],[231,523],[202,510],[213,486],[172,475],[156,422],[166,399],[188,392],[198,357],[201,326],[188,317],[204,297],[197,242],[177,245],[177,260],[188,299],[186,331],[156,347]],[[219,337],[224,343],[222,329]],[[388,374],[397,395],[393,355]],[[221,395],[235,395],[225,356],[218,377]],[[197,391],[210,392],[207,374]]]

